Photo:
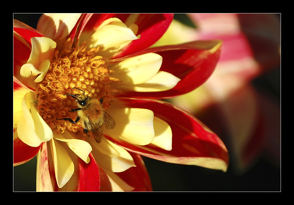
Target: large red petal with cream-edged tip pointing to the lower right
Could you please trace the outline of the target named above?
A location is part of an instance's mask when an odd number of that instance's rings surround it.
[[[229,163],[226,146],[215,133],[209,130],[208,127],[194,116],[164,101],[145,99],[121,100],[131,107],[152,110],[154,116],[167,122],[173,132],[173,149],[171,151],[166,151],[150,145],[135,146],[120,141],[118,138],[111,138],[109,136],[107,136],[107,138],[131,152],[170,163],[190,164],[186,162],[197,160],[198,157],[222,160],[224,166],[219,169],[226,171]],[[206,167],[202,164],[201,166]]]

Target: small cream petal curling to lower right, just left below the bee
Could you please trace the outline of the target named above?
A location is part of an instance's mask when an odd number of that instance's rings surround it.
[[[66,130],[60,135],[54,132],[54,138],[59,141],[66,142],[69,149],[71,149],[76,155],[78,155],[78,157],[80,157],[86,163],[90,162],[89,154],[92,151],[92,147],[88,142],[80,139],[75,139]]]

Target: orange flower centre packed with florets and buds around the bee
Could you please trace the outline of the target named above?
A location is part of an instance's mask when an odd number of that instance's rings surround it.
[[[57,120],[62,118],[77,119],[75,112],[69,112],[77,108],[76,101],[64,94],[82,94],[83,90],[88,97],[103,98],[104,109],[110,107],[113,98],[110,82],[118,81],[109,75],[102,56],[98,55],[99,48],[86,49],[84,43],[80,47],[68,48],[70,39],[67,40],[61,52],[55,51],[50,68],[42,82],[38,84],[35,99],[40,115],[51,129],[57,127],[57,131],[64,132],[67,128],[73,132],[82,130],[78,122],[72,124],[68,121]],[[107,93],[107,95],[106,95]]]

